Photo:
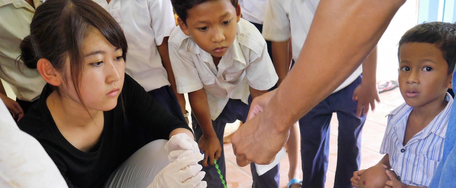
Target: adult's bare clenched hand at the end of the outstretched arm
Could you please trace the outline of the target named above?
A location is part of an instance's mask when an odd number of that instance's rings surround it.
[[[251,162],[270,164],[288,141],[289,135],[290,129],[279,130],[275,122],[264,117],[264,112],[255,115],[233,134],[231,144],[236,162],[240,167]]]

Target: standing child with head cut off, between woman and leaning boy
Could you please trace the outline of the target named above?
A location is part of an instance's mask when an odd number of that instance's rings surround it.
[[[168,54],[168,37],[176,27],[171,2],[94,1],[107,10],[124,30],[129,48],[125,73],[135,79],[171,114],[188,123],[189,113],[185,110],[184,94],[176,91]]]

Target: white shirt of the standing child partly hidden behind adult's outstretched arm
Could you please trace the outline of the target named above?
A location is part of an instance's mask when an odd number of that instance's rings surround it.
[[[291,37],[293,59],[297,60],[319,2],[320,0],[267,0],[263,37],[275,42],[287,41]],[[363,67],[359,66],[333,93],[352,84],[361,73]]]

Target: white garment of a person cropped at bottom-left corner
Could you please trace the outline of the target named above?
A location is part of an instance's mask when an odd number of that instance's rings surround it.
[[[67,187],[40,142],[17,127],[0,100],[0,188]]]

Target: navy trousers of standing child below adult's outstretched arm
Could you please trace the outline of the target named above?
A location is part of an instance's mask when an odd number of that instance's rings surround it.
[[[361,132],[366,121],[365,115],[357,117],[358,102],[352,100],[361,79],[359,76],[352,84],[329,95],[299,120],[302,188],[325,187],[332,113],[337,114],[339,121],[334,188],[352,188],[350,178],[361,162]]]

